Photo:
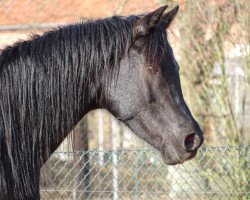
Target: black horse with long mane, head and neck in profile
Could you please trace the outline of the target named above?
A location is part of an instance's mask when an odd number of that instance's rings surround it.
[[[178,7],[58,28],[0,54],[0,199],[39,199],[40,168],[90,110],[105,108],[183,163],[203,142],[166,28]]]

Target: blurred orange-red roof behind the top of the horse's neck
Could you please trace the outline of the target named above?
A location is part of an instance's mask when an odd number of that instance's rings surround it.
[[[144,13],[155,0],[18,0],[0,4],[0,25],[75,22],[114,14]]]

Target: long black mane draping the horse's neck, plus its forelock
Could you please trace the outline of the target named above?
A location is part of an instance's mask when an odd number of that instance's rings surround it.
[[[96,98],[96,85],[117,77],[138,18],[59,27],[0,52],[0,193],[7,192],[8,179],[17,198],[35,190],[33,176],[52,144],[80,120],[83,102]],[[150,63],[163,54],[162,36],[155,31],[143,39]],[[100,80],[104,71],[109,74]]]

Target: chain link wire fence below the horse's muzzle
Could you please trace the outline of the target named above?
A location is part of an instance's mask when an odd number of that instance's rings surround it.
[[[42,199],[249,199],[250,145],[201,148],[167,166],[151,150],[56,152],[41,172]]]

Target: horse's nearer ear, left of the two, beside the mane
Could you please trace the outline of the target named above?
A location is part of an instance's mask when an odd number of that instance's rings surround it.
[[[137,39],[140,36],[149,33],[149,30],[160,21],[160,18],[168,6],[162,6],[157,10],[138,19],[133,26],[133,37]]]

